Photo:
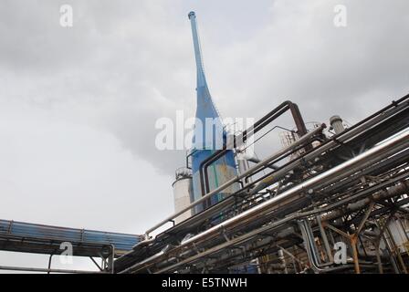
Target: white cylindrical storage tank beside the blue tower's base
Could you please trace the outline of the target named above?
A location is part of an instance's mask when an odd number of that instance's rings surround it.
[[[191,204],[193,199],[192,171],[188,168],[179,168],[175,173],[176,180],[173,187],[174,211],[177,213]],[[192,216],[192,210],[178,216],[174,223],[178,224]]]

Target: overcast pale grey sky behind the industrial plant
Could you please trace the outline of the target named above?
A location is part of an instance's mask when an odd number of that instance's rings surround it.
[[[143,234],[173,213],[184,151],[154,123],[194,114],[191,10],[224,117],[291,99],[354,123],[409,91],[407,0],[2,0],[1,219]]]

